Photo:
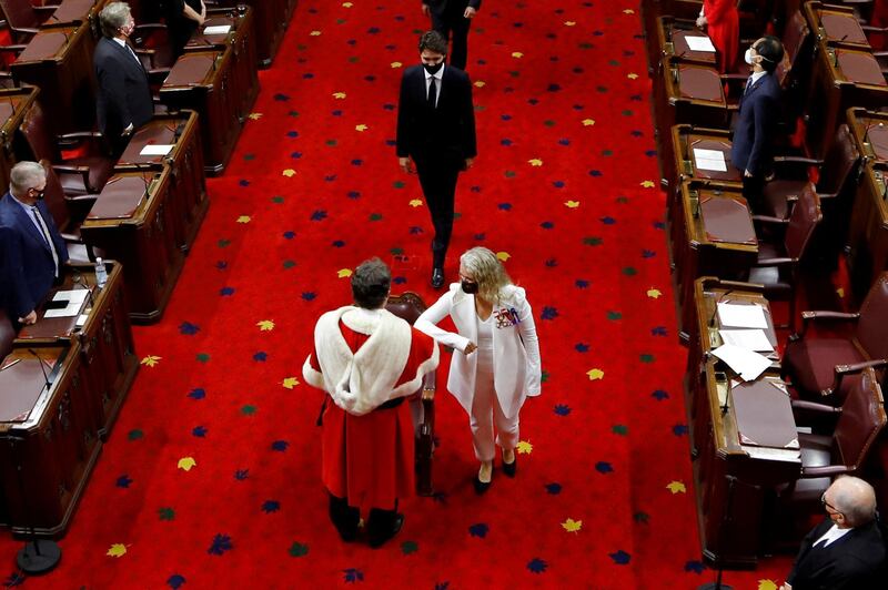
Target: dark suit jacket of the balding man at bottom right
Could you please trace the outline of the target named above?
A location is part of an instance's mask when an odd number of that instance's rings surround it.
[[[786,579],[793,590],[877,590],[886,587],[885,539],[878,525],[851,529],[829,547],[811,545],[833,526],[826,518],[801,540],[801,549]]]

